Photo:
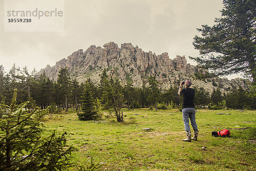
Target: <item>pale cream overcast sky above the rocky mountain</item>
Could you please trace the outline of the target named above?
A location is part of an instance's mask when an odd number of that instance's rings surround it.
[[[23,0],[24,1],[24,0]],[[1,0],[0,23],[4,21]],[[198,56],[192,41],[202,24],[220,17],[222,0],[65,0],[64,32],[5,32],[0,28],[0,64],[40,70],[78,49],[114,41],[169,58]]]

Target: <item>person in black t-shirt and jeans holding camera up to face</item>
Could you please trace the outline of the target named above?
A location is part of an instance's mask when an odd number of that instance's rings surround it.
[[[182,85],[185,84],[185,89],[182,88]],[[182,104],[182,117],[184,122],[184,127],[186,130],[186,139],[183,141],[191,142],[191,139],[197,141],[198,137],[198,127],[195,122],[195,104],[194,104],[194,97],[195,97],[195,90],[192,89],[190,86],[192,85],[190,80],[185,82],[180,82],[179,88],[179,95],[183,95],[183,104]],[[191,126],[194,130],[194,137],[191,138],[191,131],[189,127],[189,119],[191,122]]]

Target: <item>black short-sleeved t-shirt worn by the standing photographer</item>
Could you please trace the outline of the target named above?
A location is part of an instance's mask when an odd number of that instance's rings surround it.
[[[183,95],[183,104],[182,108],[192,107],[195,108],[194,98],[195,90],[192,88],[186,88],[180,91],[180,95]]]

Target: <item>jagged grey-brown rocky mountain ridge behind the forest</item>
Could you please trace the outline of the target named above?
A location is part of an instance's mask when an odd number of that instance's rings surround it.
[[[168,89],[171,85],[177,86],[180,81],[186,79],[191,79],[194,86],[204,87],[210,92],[216,86],[223,90],[240,86],[247,88],[240,78],[195,81],[192,76],[198,72],[198,68],[187,64],[185,56],[177,55],[172,60],[167,52],[156,55],[151,51],[144,52],[131,43],[123,43],[121,48],[114,42],[106,43],[103,48],[91,45],[84,52],[83,49],[73,52],[67,59],[56,62],[55,66],[47,65],[38,74],[45,72],[51,80],[57,81],[58,71],[64,67],[67,67],[70,77],[76,78],[79,82],[86,81],[90,77],[95,83],[99,83],[100,75],[106,68],[108,74],[118,77],[122,85],[130,83],[134,87],[147,86],[148,76],[155,75],[163,89]]]

